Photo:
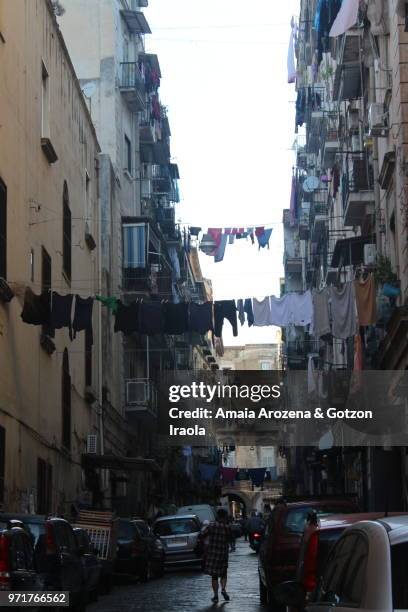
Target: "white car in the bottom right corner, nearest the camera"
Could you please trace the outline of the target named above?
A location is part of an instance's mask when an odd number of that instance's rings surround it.
[[[348,527],[331,549],[306,612],[408,610],[408,516],[361,521]],[[300,582],[281,585],[285,603],[304,599]]]

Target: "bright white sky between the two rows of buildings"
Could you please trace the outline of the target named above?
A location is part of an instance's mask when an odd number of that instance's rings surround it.
[[[290,195],[295,91],[287,84],[290,19],[299,0],[150,0],[145,9],[163,75],[172,156],[179,164],[190,225],[273,224],[270,250],[250,241],[227,246],[221,263],[201,255],[215,299],[279,292],[282,209]],[[278,8],[279,7],[279,8]],[[273,342],[276,329],[224,323],[225,344]]]

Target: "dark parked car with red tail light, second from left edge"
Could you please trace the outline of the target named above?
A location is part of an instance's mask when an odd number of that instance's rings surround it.
[[[0,514],[0,524],[18,520],[34,546],[34,563],[45,591],[69,591],[72,609],[85,609],[87,594],[72,526],[38,514]]]

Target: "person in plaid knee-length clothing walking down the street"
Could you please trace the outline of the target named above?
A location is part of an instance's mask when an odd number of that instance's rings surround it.
[[[223,508],[217,511],[214,523],[206,528],[204,535],[208,537],[208,546],[205,555],[204,571],[211,576],[211,586],[214,592],[213,603],[218,602],[218,581],[221,583],[221,595],[225,601],[230,597],[226,591],[228,554],[229,546],[232,541],[231,526],[228,524],[228,513]]]

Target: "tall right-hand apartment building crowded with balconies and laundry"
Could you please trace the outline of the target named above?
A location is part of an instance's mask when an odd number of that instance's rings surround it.
[[[322,4],[302,0],[299,15],[296,165],[291,206],[283,213],[283,291],[321,290],[372,273],[377,321],[364,332],[364,367],[404,370],[407,8],[395,0],[360,2],[354,26],[329,37],[330,24],[319,21]],[[354,337],[323,341],[299,328],[286,335],[284,352],[288,369],[306,370],[311,357],[321,370],[354,367]],[[390,508],[401,507],[405,452],[343,452],[322,441],[321,449],[290,454],[295,470],[309,464],[305,490],[345,487],[371,508],[386,495]],[[396,487],[388,487],[387,470]]]

